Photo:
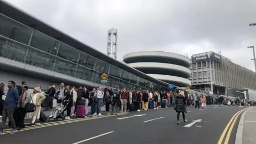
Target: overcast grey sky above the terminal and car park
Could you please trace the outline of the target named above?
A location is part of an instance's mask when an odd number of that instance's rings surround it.
[[[255,0],[7,0],[107,53],[107,31],[118,30],[117,59],[134,51],[188,55],[214,51],[254,70]]]

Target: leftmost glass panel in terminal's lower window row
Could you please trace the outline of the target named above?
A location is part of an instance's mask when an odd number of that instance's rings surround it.
[[[0,37],[0,56],[24,62],[28,46]]]

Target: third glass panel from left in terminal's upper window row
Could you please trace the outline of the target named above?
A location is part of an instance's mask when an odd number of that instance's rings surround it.
[[[79,51],[66,44],[61,44],[58,52],[58,57],[76,63],[79,57]]]

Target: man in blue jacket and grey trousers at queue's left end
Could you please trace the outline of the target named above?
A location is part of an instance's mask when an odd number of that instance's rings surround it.
[[[19,92],[17,89],[15,89],[15,82],[13,81],[8,82],[8,87],[9,87],[9,90],[7,92],[7,95],[4,101],[4,106],[3,106],[3,117],[2,117],[2,124],[0,127],[0,134],[4,134],[3,127],[5,126],[7,117],[12,127],[10,134],[17,132],[16,125],[13,119],[13,113],[14,113],[14,109],[17,106],[17,102],[19,101]]]

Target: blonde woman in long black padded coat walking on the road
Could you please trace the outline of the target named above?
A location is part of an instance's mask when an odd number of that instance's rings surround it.
[[[186,112],[186,98],[184,97],[184,91],[180,91],[178,96],[175,99],[176,103],[176,112],[177,112],[177,124],[180,124],[180,113],[182,113],[183,122],[186,123],[185,112]]]

